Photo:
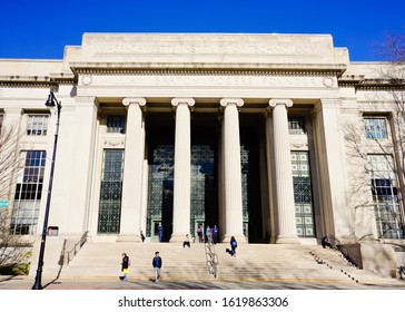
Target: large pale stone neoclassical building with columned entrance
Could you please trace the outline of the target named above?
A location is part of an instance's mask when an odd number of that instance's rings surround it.
[[[395,263],[404,211],[389,66],[350,62],[324,35],[85,33],[62,60],[1,59],[2,124],[18,125],[26,159],[4,198],[10,228],[42,230],[52,89],[59,236],[156,241],[159,224],[166,242],[198,225],[225,242],[333,234],[364,266]]]

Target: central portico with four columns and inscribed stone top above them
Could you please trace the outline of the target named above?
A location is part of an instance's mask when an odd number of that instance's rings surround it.
[[[255,36],[248,49],[241,37],[225,37],[228,47],[208,35],[85,35],[81,58],[72,68],[77,97],[93,96],[99,103],[102,144],[95,169],[103,170],[106,153],[124,150],[120,201],[101,203],[97,185],[102,175],[95,176],[92,235],[139,241],[142,231],[154,241],[161,224],[164,241],[182,242],[186,234],[196,235],[198,225],[217,225],[225,242],[236,236],[300,243],[303,237],[315,240],[317,226],[324,232],[322,199],[308,193],[307,203],[296,201],[293,158],[300,153],[306,168],[310,160],[306,192],[317,187],[314,177],[323,168],[309,144],[315,147],[322,129],[314,116],[324,97],[338,97],[337,76],[347,55],[325,45],[329,38],[322,36],[310,45],[292,36],[283,53],[276,37]],[[149,39],[154,49],[148,49]],[[119,50],[113,48],[118,42]],[[157,49],[159,45],[165,48]],[[136,62],[129,62],[132,57],[122,46],[137,56]],[[286,61],[286,53],[299,67]],[[292,136],[290,111],[305,125],[300,136]],[[115,135],[102,121],[113,115],[125,120]],[[116,209],[118,232],[96,226],[103,220],[100,207],[109,205]]]

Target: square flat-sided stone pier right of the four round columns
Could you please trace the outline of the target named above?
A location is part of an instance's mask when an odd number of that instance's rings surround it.
[[[342,130],[340,99],[320,99],[315,107],[317,159],[320,168],[322,234],[333,233],[342,243],[353,243],[355,220],[346,194],[350,194],[345,169],[345,142]],[[358,221],[357,221],[358,222]]]

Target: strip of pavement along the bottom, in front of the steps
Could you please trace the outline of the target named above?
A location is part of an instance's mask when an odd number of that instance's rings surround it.
[[[31,290],[33,276],[0,275],[0,290]],[[42,277],[43,290],[405,290],[405,281],[392,283],[356,283],[325,280],[184,280],[161,277],[159,283],[150,279],[129,277]]]

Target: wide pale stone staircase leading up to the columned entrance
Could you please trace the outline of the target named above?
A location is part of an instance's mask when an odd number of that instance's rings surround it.
[[[393,283],[393,279],[358,270],[333,250],[318,245],[239,244],[236,257],[226,248],[229,244],[215,245],[218,255],[217,279],[260,280],[294,282],[349,282]],[[162,277],[172,280],[210,280],[205,244],[191,244],[184,248],[170,243],[88,242],[69,265],[47,261],[43,276],[103,276],[121,275],[121,254],[131,259],[131,279],[152,279],[151,260],[159,251],[164,261]],[[52,259],[52,255],[48,255]],[[53,259],[58,259],[53,256]],[[31,270],[32,273],[32,270]]]

